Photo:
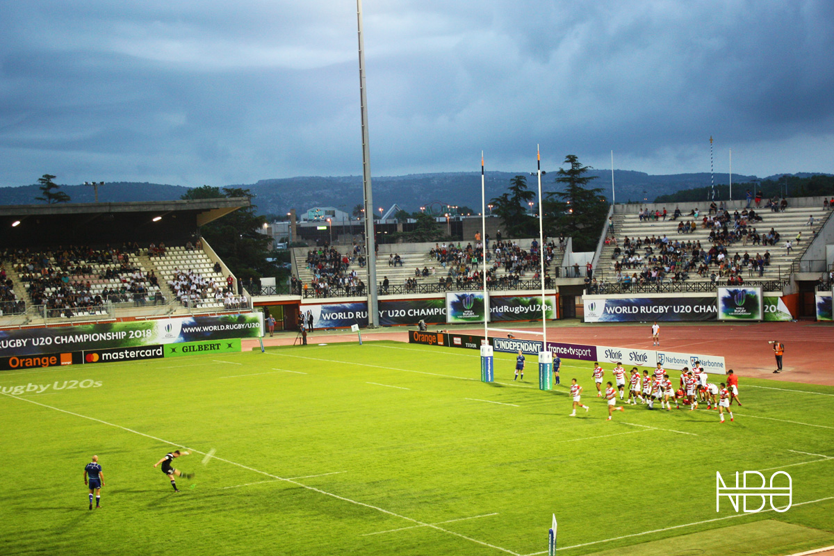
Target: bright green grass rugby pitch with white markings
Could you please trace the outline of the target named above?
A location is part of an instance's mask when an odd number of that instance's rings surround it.
[[[606,422],[593,394],[568,417],[535,361],[513,383],[514,363],[497,354],[484,384],[477,352],[379,342],[2,374],[5,392],[88,388],[0,396],[0,553],[526,555],[551,513],[565,554],[834,544],[834,388],[742,376],[735,423],[633,406]],[[590,393],[590,365],[565,361],[574,376]],[[153,463],[178,447],[196,477],[175,494]],[[786,513],[716,513],[716,471],[778,469]]]

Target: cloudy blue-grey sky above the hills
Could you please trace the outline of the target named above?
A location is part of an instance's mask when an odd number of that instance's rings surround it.
[[[374,175],[834,172],[831,0],[365,0]],[[354,0],[0,1],[0,186],[362,173]]]

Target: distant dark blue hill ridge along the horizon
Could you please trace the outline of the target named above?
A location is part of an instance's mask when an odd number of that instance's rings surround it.
[[[527,176],[530,188],[535,190],[536,178]],[[487,172],[485,178],[486,199],[504,193],[517,173]],[[592,184],[601,188],[610,199],[610,170],[591,170],[590,175],[597,176]],[[778,179],[783,174],[764,179]],[[796,177],[811,176],[811,173],[790,174]],[[556,191],[555,173],[542,176],[542,189]],[[757,181],[756,176],[733,174],[733,183]],[[727,183],[729,175],[716,173],[715,183]],[[653,201],[660,195],[676,193],[682,189],[702,188],[710,185],[709,173],[679,173],[670,175],[651,175],[631,170],[615,170],[614,183],[616,200],[641,202]],[[333,206],[348,213],[354,206],[362,203],[362,177],[299,177],[281,179],[262,179],[257,183],[232,184],[229,187],[249,188],[255,194],[254,204],[261,214],[284,214],[290,208],[304,211],[314,206]],[[480,207],[480,173],[450,172],[422,173],[406,176],[381,176],[373,178],[374,205],[388,208],[394,203],[409,211],[419,210],[421,206],[435,203],[451,205],[468,205],[475,210]],[[92,203],[93,188],[84,185],[62,185],[61,190],[72,198],[73,203]],[[107,183],[98,189],[98,200],[102,203],[125,201],[164,201],[181,198],[188,188],[178,185],[159,183]],[[17,188],[0,188],[0,205],[32,204],[39,195],[37,185]]]

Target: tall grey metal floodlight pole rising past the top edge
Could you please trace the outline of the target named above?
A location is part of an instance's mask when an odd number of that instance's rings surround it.
[[[359,110],[362,113],[362,177],[365,207],[365,252],[368,255],[368,326],[379,327],[374,238],[374,197],[370,187],[370,143],[368,138],[368,94],[365,86],[362,0],[356,0],[356,28],[359,34]]]

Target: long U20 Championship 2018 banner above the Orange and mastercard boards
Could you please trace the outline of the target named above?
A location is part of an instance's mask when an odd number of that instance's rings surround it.
[[[258,338],[263,330],[264,313],[0,330],[0,357]]]

